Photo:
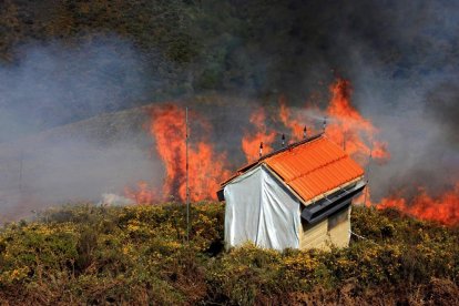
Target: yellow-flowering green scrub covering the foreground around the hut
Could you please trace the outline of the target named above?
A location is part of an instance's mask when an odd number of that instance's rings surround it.
[[[367,239],[332,252],[223,251],[224,206],[61,207],[0,232],[0,299],[11,304],[459,303],[459,232],[355,207]]]

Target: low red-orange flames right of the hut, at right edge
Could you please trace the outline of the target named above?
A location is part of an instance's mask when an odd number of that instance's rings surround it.
[[[398,208],[421,220],[434,220],[446,225],[459,224],[459,182],[438,197],[431,197],[425,187],[411,201],[397,195],[382,198],[378,208]]]

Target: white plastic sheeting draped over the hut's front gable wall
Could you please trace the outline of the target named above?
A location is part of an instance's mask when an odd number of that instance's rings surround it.
[[[299,247],[299,202],[259,165],[224,187],[225,244],[247,241],[265,248]]]

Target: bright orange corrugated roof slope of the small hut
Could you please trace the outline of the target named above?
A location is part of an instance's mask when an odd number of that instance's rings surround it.
[[[364,170],[325,136],[293,146],[261,161],[304,201],[364,175]]]

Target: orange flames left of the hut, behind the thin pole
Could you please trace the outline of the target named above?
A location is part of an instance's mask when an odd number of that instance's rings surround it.
[[[156,151],[165,166],[163,198],[186,200],[186,122],[185,112],[174,104],[152,109],[150,133],[156,141]],[[202,120],[202,119],[200,119]],[[204,121],[202,121],[204,122]],[[206,128],[205,123],[201,124]],[[191,143],[188,147],[188,182],[190,200],[216,200],[220,187],[218,181],[228,176],[225,170],[226,156],[214,152],[211,144],[204,140]],[[149,192],[151,197],[149,197]],[[139,185],[137,192],[129,191],[126,196],[141,203],[152,204],[155,192],[149,190],[144,183]]]

